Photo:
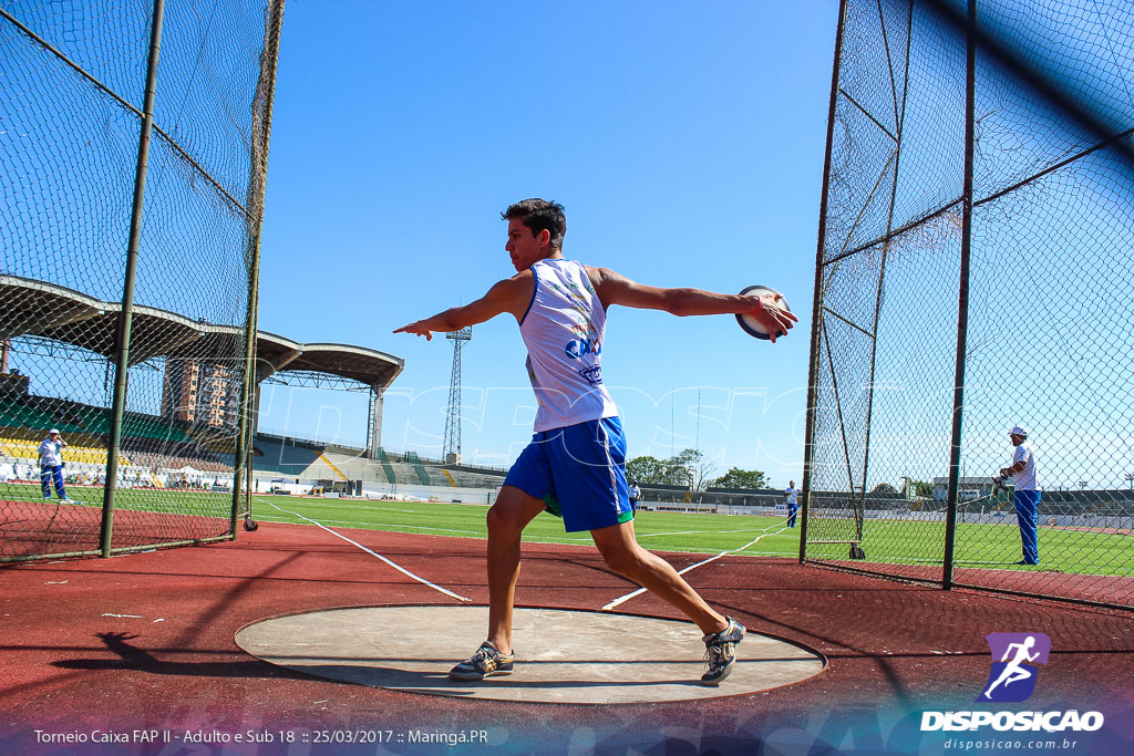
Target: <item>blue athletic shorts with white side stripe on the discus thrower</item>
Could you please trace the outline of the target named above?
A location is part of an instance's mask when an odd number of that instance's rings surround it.
[[[626,486],[626,438],[617,417],[534,434],[503,484],[542,499],[568,533],[634,519]]]

